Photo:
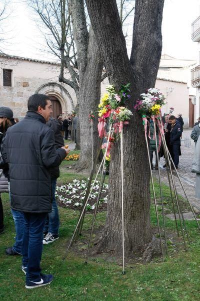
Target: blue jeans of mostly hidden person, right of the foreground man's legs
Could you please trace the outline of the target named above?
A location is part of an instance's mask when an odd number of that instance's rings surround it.
[[[56,188],[56,179],[51,180],[52,211],[48,213],[46,217],[45,226],[43,229],[43,232],[49,232],[52,235],[58,235],[58,229],[59,229],[59,212],[57,209],[57,204],[55,199],[55,188]]]

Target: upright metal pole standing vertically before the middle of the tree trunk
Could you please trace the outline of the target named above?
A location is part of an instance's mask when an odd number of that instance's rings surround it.
[[[122,274],[124,270],[124,224],[123,224],[123,128],[120,133],[120,146],[121,146],[121,219],[122,219]]]

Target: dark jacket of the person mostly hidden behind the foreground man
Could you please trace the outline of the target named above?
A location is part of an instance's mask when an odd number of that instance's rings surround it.
[[[48,125],[54,133],[54,139],[55,139],[55,148],[60,148],[64,146],[64,140],[61,135],[61,128],[60,123],[57,119],[50,117],[49,120],[46,122],[46,125]],[[57,179],[59,177],[59,166],[52,167],[49,169],[50,177],[51,179]]]

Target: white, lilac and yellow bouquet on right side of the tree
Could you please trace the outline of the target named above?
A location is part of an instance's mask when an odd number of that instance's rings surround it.
[[[140,94],[140,98],[136,100],[134,109],[142,117],[151,117],[152,115],[159,115],[160,108],[164,104],[164,95],[159,89],[150,88],[146,93]]]

